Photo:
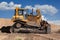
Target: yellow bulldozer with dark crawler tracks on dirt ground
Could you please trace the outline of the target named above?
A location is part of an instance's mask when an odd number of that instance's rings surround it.
[[[2,32],[9,30],[11,33],[51,33],[50,24],[42,20],[40,9],[29,12],[29,9],[16,7],[11,20],[14,24],[6,29],[3,27]]]

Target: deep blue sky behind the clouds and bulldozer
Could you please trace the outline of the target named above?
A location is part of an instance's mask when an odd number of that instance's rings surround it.
[[[25,8],[26,6],[35,7],[35,5],[39,5],[40,7],[45,5],[45,7],[43,8],[52,7],[51,9],[44,9],[46,13],[42,11],[42,15],[47,20],[60,20],[60,0],[0,0],[0,5],[2,2],[8,4],[10,2],[13,2],[14,5],[20,5],[22,8]],[[0,18],[12,18],[12,16],[14,15],[14,9],[6,10],[5,7],[3,10],[2,9],[3,7],[0,8]]]

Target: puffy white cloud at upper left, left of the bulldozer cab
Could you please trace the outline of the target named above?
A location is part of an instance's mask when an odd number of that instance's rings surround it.
[[[15,9],[16,7],[21,7],[21,4],[14,4],[14,2],[1,2],[0,3],[0,10],[8,10],[8,9]]]

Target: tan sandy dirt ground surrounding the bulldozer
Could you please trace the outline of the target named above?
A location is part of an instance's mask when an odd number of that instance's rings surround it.
[[[0,28],[2,26],[12,25],[10,19],[0,18]],[[51,34],[34,34],[34,33],[1,33],[0,40],[60,40],[60,33],[56,33],[60,26],[51,24]]]

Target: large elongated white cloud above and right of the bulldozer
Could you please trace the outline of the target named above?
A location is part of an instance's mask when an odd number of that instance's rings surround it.
[[[28,8],[28,9],[33,8],[34,10],[40,9],[41,12],[48,13],[48,14],[50,14],[50,13],[55,14],[58,12],[58,10],[52,5],[35,5],[34,7],[26,6],[25,8]]]

